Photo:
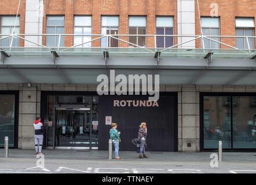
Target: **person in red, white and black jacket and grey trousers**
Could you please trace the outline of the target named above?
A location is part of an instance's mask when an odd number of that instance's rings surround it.
[[[43,146],[43,123],[41,122],[40,117],[36,117],[36,120],[34,122],[34,128],[35,128],[35,153],[41,154],[42,146]]]

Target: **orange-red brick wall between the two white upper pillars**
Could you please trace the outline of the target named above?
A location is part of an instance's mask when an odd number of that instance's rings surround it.
[[[101,34],[101,16],[119,16],[119,33],[128,34],[128,16],[147,16],[147,34],[155,34],[155,16],[174,16],[177,24],[177,0],[45,0],[43,33],[46,34],[46,15],[65,15],[65,34],[74,32],[74,15],[92,15],[92,34]],[[174,28],[177,34],[177,27]],[[97,38],[94,36],[93,38]],[[126,37],[120,39],[127,40]],[[43,43],[46,39],[43,38]],[[148,47],[154,47],[153,38],[147,39]],[[72,46],[73,39],[65,38],[65,46]],[[100,40],[92,46],[100,46]],[[119,42],[120,47],[127,44]]]

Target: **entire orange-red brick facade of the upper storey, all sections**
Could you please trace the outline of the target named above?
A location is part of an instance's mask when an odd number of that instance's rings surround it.
[[[1,0],[0,16],[15,15],[19,0]],[[210,16],[211,0],[199,0],[201,16]],[[235,35],[235,17],[255,17],[255,0],[216,0],[220,16],[221,35]],[[45,12],[43,17],[43,34],[46,34],[46,15],[65,16],[65,34],[74,33],[74,15],[92,15],[93,34],[101,34],[101,15],[118,15],[120,17],[119,33],[128,34],[128,16],[147,16],[147,34],[155,34],[155,16],[174,16],[174,34],[177,34],[177,0],[45,0]],[[198,7],[195,1],[196,35],[200,35]],[[25,0],[21,0],[20,10],[20,33],[24,34],[25,25]],[[256,24],[256,21],[255,21]],[[256,32],[256,30],[255,30]],[[96,38],[96,37],[94,37]],[[125,39],[125,37],[120,37]],[[174,40],[177,43],[177,39]],[[234,38],[223,38],[222,42],[235,46]],[[43,44],[46,38],[43,37]],[[65,46],[72,46],[73,38],[65,38]],[[153,47],[153,38],[147,39],[147,46]],[[24,41],[20,40],[20,46]],[[93,42],[93,46],[100,46],[100,40]],[[127,44],[119,42],[120,47]],[[196,42],[200,47],[200,41]],[[221,48],[228,48],[224,45]]]

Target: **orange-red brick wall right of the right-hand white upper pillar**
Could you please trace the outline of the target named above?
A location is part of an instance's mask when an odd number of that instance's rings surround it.
[[[210,5],[213,3],[211,0],[199,0],[201,16],[210,16]],[[218,4],[218,14],[220,17],[220,33],[221,35],[236,35],[235,33],[235,17],[256,17],[256,1],[255,0],[215,0],[214,3]],[[195,1],[196,10],[196,35],[200,35],[200,23],[198,14],[198,5]],[[254,19],[255,20],[255,19]],[[256,23],[256,22],[255,22]],[[255,30],[256,31],[256,30]],[[224,42],[231,46],[236,46],[235,38],[223,38]],[[200,41],[196,42],[196,46],[200,47]],[[221,48],[230,48],[221,45]]]

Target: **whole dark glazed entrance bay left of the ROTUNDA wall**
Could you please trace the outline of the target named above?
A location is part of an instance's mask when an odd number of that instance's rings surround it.
[[[98,149],[98,97],[65,93],[42,93],[46,148]]]

